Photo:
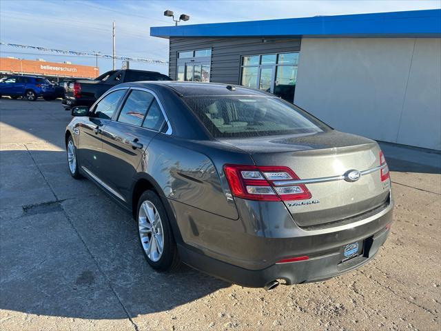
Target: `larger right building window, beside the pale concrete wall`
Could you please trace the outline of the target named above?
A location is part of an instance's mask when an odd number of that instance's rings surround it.
[[[298,52],[242,57],[240,85],[258,88],[294,102]]]

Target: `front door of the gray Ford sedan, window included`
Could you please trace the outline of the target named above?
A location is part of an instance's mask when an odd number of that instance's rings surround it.
[[[91,116],[79,127],[79,161],[83,170],[95,179],[102,177],[103,172],[103,128],[112,119],[125,92],[127,89],[106,94],[93,106]]]

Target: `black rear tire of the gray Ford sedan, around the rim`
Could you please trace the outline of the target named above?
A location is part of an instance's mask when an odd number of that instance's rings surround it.
[[[147,263],[156,270],[161,272],[176,270],[181,267],[181,259],[178,254],[178,248],[176,247],[176,241],[173,237],[172,228],[170,227],[170,221],[168,219],[167,212],[158,194],[152,190],[145,191],[138,201],[136,210],[136,222],[139,221],[139,211],[144,201],[150,201],[154,204],[156,211],[161,217],[162,230],[163,230],[163,252],[161,258],[158,261],[153,261],[147,256],[144,250],[143,243],[141,242],[141,235],[139,235],[139,243],[141,245],[142,252],[144,254]]]

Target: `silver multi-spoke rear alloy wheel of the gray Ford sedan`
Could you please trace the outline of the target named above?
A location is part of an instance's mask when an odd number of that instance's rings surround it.
[[[158,210],[151,201],[144,201],[138,213],[139,237],[145,254],[151,261],[159,261],[163,254],[163,223]]]

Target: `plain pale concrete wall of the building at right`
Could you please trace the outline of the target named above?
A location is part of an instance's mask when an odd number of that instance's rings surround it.
[[[302,39],[294,102],[337,130],[441,150],[441,39]]]

